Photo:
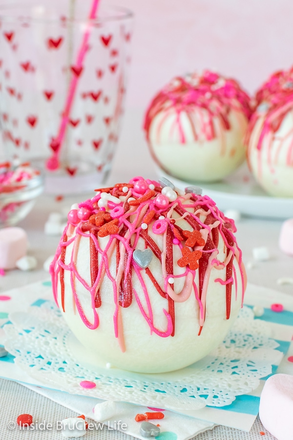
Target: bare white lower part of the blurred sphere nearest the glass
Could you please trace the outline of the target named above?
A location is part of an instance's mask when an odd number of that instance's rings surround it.
[[[200,133],[207,111],[195,108],[190,116],[196,132]],[[201,134],[195,141],[186,112],[178,115],[170,110],[167,116],[161,112],[151,123],[149,148],[169,175],[188,181],[217,181],[230,175],[245,159],[243,140],[248,120],[243,113],[231,109],[229,122],[230,130],[224,130],[220,120],[214,117],[215,138],[208,140]],[[180,140],[179,124],[185,143]]]

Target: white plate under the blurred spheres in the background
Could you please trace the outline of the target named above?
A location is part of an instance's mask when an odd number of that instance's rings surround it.
[[[164,176],[179,189],[197,184],[203,194],[212,198],[218,207],[225,211],[236,209],[242,214],[253,217],[269,217],[273,219],[293,218],[293,198],[272,197],[257,184],[246,164],[221,182],[203,183],[179,180],[156,167],[158,176]]]

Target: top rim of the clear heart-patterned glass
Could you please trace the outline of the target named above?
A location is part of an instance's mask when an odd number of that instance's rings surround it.
[[[62,22],[61,17],[55,17],[55,18],[39,18],[39,17],[31,17],[29,15],[29,13],[27,14],[27,16],[23,16],[23,15],[14,15],[11,13],[11,11],[16,11],[19,8],[25,8],[27,10],[30,10],[31,7],[33,7],[34,5],[31,4],[26,4],[23,5],[21,3],[12,3],[12,4],[2,4],[0,5],[0,20],[3,22],[33,22],[33,23],[58,23],[58,22]],[[37,4],[36,4],[37,6]],[[42,5],[41,5],[42,6]],[[5,13],[9,11],[9,13]],[[127,19],[131,19],[133,18],[133,12],[124,7],[124,6],[116,6],[116,5],[107,5],[107,6],[103,6],[102,7],[102,14],[103,11],[113,11],[112,14],[110,14],[109,16],[104,16],[102,15],[102,17],[99,17],[99,12],[98,12],[98,17],[95,19],[88,19],[88,18],[83,18],[83,19],[78,19],[78,18],[67,18],[66,17],[66,23],[92,23],[92,24],[102,24],[104,22],[115,22],[115,21],[125,21]],[[115,13],[116,11],[116,13]]]

